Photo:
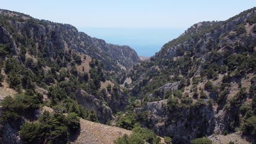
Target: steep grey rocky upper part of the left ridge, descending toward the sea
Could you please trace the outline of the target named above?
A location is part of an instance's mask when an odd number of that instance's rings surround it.
[[[48,47],[51,56],[54,51],[72,49],[96,57],[106,64],[108,70],[120,69],[118,65],[129,67],[139,62],[136,51],[131,47],[107,44],[102,39],[92,38],[83,32],[78,32],[71,25],[37,20],[31,16],[8,10],[0,10],[0,15],[9,19],[11,26],[7,26],[8,28],[16,29],[15,34],[10,36],[7,29],[2,26],[0,28],[1,42],[11,41],[16,54],[18,54],[20,47],[15,45],[13,41],[18,40],[24,43],[22,35],[26,33],[30,36],[28,39],[31,39],[32,46],[36,46],[36,50],[33,50],[32,53],[34,57],[39,55],[37,52]]]

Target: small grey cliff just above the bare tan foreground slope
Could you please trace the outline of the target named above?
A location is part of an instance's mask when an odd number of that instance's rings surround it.
[[[79,91],[76,94],[77,101],[86,109],[94,109],[97,113],[97,118],[101,123],[106,123],[112,119],[112,110],[104,105],[101,100],[95,98],[94,95],[88,94],[85,91]]]

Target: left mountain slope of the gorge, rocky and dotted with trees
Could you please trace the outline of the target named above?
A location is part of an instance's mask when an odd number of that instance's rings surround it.
[[[129,46],[1,9],[0,142],[66,143],[78,117],[107,123],[129,105],[112,77],[138,61]],[[44,106],[54,113],[39,113]]]

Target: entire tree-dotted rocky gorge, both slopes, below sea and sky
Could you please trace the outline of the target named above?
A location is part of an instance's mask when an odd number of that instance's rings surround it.
[[[196,23],[142,61],[0,10],[0,143],[256,142],[255,51],[255,7]]]

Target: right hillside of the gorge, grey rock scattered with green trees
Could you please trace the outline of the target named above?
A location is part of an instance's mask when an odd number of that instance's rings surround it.
[[[150,61],[133,65],[122,79],[131,79],[126,88],[137,99],[126,115],[148,112],[141,125],[173,143],[236,131],[255,137],[255,17],[252,8],[196,23]]]

